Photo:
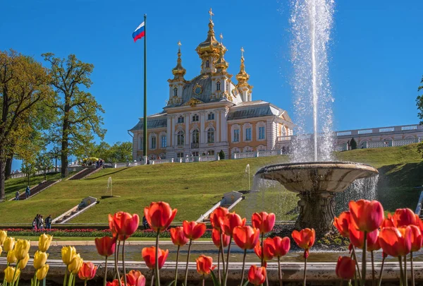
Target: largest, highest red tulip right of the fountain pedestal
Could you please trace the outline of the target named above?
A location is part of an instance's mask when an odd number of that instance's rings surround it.
[[[358,230],[372,232],[378,229],[384,221],[384,208],[379,201],[350,201],[351,220]]]

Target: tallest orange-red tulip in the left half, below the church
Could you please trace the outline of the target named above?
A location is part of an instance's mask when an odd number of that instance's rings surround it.
[[[148,208],[144,208],[144,215],[149,226],[154,232],[164,232],[171,225],[178,210],[168,203],[162,201],[150,203]]]

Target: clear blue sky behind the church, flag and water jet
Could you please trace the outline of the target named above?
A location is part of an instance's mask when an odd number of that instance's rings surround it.
[[[106,141],[129,141],[142,116],[142,41],[131,34],[147,13],[149,114],[168,97],[167,79],[182,42],[186,79],[200,72],[197,44],[207,37],[212,6],[223,33],[229,72],[239,71],[240,47],[254,85],[253,100],[293,114],[288,1],[3,1],[0,49],[75,54],[94,64],[90,92],[106,109]],[[337,130],[418,122],[415,98],[423,75],[423,1],[336,1],[330,81]]]

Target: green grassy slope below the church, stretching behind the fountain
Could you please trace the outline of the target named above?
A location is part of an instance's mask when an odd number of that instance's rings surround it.
[[[378,198],[386,210],[417,204],[423,184],[423,162],[416,145],[398,148],[363,149],[338,153],[340,160],[365,162],[379,168]],[[78,204],[85,196],[99,198],[106,193],[107,180],[112,177],[113,193],[121,198],[108,198],[75,218],[74,223],[107,222],[107,214],[117,210],[142,215],[151,201],[167,201],[178,208],[177,221],[196,220],[219,201],[227,191],[247,189],[245,166],[254,174],[259,167],[286,161],[286,157],[262,157],[190,164],[149,165],[122,169],[105,169],[87,179],[62,181],[28,201],[0,205],[0,223],[31,222],[36,213],[53,217]],[[276,212],[278,220],[295,217],[290,213],[296,205],[294,193],[274,186],[264,193],[251,193],[235,210],[249,216],[257,210]],[[17,208],[18,206],[18,208]]]

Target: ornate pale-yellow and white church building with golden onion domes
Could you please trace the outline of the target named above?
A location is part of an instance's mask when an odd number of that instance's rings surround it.
[[[207,39],[196,49],[200,75],[190,81],[184,78],[179,42],[166,106],[147,117],[147,138],[143,138],[142,118],[129,130],[133,133],[133,160],[142,159],[145,139],[150,159],[217,155],[221,151],[231,158],[233,153],[274,150],[278,137],[293,135],[294,124],[285,110],[252,100],[243,48],[240,71],[233,81],[224,58],[226,47],[216,40],[212,10],[209,13]]]

